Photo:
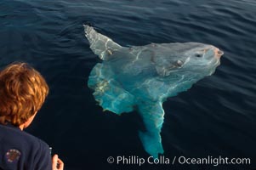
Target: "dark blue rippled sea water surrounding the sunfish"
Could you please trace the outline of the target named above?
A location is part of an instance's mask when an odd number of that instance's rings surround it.
[[[108,156],[147,157],[136,112],[103,112],[87,87],[100,62],[83,23],[123,46],[203,42],[225,51],[212,77],[168,99],[164,156],[249,157],[247,166],[114,165]],[[65,169],[256,168],[256,2],[254,0],[1,0],[0,66],[25,61],[50,94],[29,133],[45,140]]]

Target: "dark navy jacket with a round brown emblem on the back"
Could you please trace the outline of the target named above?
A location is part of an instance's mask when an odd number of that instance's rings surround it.
[[[19,127],[0,124],[0,169],[51,170],[48,144]]]

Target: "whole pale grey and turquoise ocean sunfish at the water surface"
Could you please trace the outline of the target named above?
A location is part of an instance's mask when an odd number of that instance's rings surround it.
[[[212,75],[223,52],[197,42],[122,47],[91,26],[84,31],[90,48],[103,60],[88,77],[94,99],[117,115],[138,111],[145,124],[139,132],[145,150],[155,158],[163,154],[162,102]]]

